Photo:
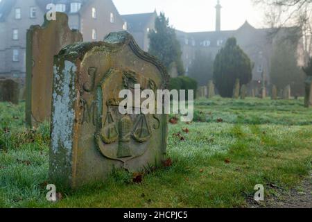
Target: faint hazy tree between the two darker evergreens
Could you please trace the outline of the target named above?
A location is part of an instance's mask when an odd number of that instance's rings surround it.
[[[195,53],[195,59],[189,68],[189,76],[194,78],[198,85],[207,85],[208,81],[212,79],[214,70],[214,58],[211,54],[203,53],[198,50]]]

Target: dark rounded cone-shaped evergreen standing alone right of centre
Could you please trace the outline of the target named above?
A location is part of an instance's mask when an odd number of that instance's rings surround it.
[[[231,37],[214,60],[214,83],[220,96],[229,98],[233,96],[236,79],[239,79],[241,85],[250,83],[252,63],[236,44],[236,38]]]

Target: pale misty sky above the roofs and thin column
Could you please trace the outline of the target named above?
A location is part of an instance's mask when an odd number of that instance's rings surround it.
[[[113,0],[121,15],[165,12],[171,25],[181,31],[214,31],[216,0]],[[222,30],[237,29],[247,19],[252,26],[263,26],[263,14],[250,0],[220,0]]]

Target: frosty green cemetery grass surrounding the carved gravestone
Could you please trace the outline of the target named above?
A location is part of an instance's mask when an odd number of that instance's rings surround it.
[[[254,185],[278,197],[311,171],[312,110],[303,100],[200,99],[193,123],[169,124],[168,158],[140,183],[107,181],[46,201],[49,124],[24,126],[24,103],[0,103],[0,207],[247,207]]]

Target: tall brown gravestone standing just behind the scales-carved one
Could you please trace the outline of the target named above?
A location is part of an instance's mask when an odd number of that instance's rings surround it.
[[[71,31],[66,14],[57,12],[56,20],[27,31],[26,46],[26,122],[29,126],[50,121],[53,56],[74,42],[82,42],[78,31]]]

